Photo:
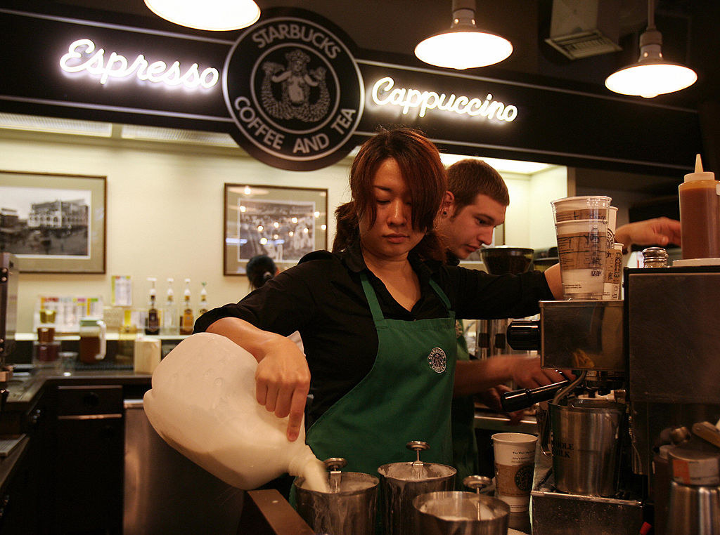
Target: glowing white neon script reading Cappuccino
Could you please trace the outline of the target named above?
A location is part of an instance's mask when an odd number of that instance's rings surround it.
[[[400,106],[402,113],[407,115],[411,108],[418,108],[420,117],[428,110],[446,111],[459,115],[482,116],[487,119],[513,122],[518,116],[518,109],[512,104],[505,105],[493,101],[488,94],[485,99],[456,96],[451,93],[436,91],[419,91],[413,88],[395,87],[395,80],[386,76],[380,78],[372,86],[372,101],[378,106]]]

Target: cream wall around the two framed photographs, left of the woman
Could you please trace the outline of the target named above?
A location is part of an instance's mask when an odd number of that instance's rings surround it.
[[[132,277],[133,304],[140,307],[147,301],[148,276],[158,278],[158,296],[164,296],[168,277],[176,280],[176,296],[182,294],[182,280],[191,278],[196,302],[200,283],[206,281],[210,306],[245,296],[247,278],[222,275],[225,183],[327,188],[330,239],[335,234],[333,211],[349,198],[348,160],[299,173],[271,168],[239,150],[149,142],[3,131],[0,169],[107,176],[107,273],[21,273],[18,332],[32,331],[39,295],[99,295],[109,304],[112,275]]]

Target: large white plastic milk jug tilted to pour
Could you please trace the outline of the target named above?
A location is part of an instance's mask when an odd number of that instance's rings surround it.
[[[153,372],[145,413],[165,441],[229,485],[251,490],[288,472],[327,488],[325,465],[287,440],[279,419],[255,398],[255,358],[218,334],[193,334]]]

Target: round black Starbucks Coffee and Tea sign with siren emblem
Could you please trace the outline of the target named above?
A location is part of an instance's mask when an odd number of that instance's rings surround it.
[[[261,20],[225,61],[225,104],[238,130],[233,137],[275,167],[314,170],[340,160],[352,149],[348,141],[362,115],[355,59],[340,31],[315,18]]]

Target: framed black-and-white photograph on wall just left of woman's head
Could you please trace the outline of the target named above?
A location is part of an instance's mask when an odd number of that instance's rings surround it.
[[[327,247],[328,190],[225,184],[225,275],[245,275],[256,255],[283,270]]]

